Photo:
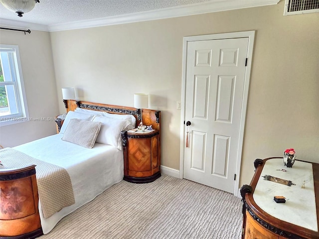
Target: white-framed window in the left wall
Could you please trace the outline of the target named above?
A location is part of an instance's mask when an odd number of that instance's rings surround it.
[[[0,125],[27,120],[18,46],[0,44]]]

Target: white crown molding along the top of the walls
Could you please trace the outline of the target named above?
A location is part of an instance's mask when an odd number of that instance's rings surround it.
[[[152,11],[102,17],[90,20],[66,22],[62,24],[52,24],[48,26],[0,18],[0,25],[5,25],[7,27],[23,27],[33,30],[53,32],[148,20],[158,20],[164,18],[196,15],[217,11],[235,10],[248,7],[274,5],[277,4],[279,1],[280,0],[211,0],[195,4],[162,8]]]

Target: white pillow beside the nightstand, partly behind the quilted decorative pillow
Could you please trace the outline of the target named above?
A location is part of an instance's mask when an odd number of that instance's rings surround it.
[[[118,149],[122,149],[121,131],[128,130],[128,126],[131,128],[132,124],[127,120],[113,119],[109,117],[97,116],[93,121],[102,122],[101,130],[96,138],[97,143],[110,144]]]

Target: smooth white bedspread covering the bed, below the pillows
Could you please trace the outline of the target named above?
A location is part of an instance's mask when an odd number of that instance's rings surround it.
[[[44,218],[39,202],[44,234],[49,233],[63,217],[92,201],[124,176],[122,150],[100,143],[95,143],[93,148],[84,148],[61,140],[62,135],[55,134],[14,147],[31,157],[61,166],[70,175],[74,205],[63,208],[50,218]]]

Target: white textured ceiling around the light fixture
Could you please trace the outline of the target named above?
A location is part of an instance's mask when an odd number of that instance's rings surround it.
[[[0,18],[52,25],[207,1],[210,0],[40,0],[22,17],[0,4]]]

